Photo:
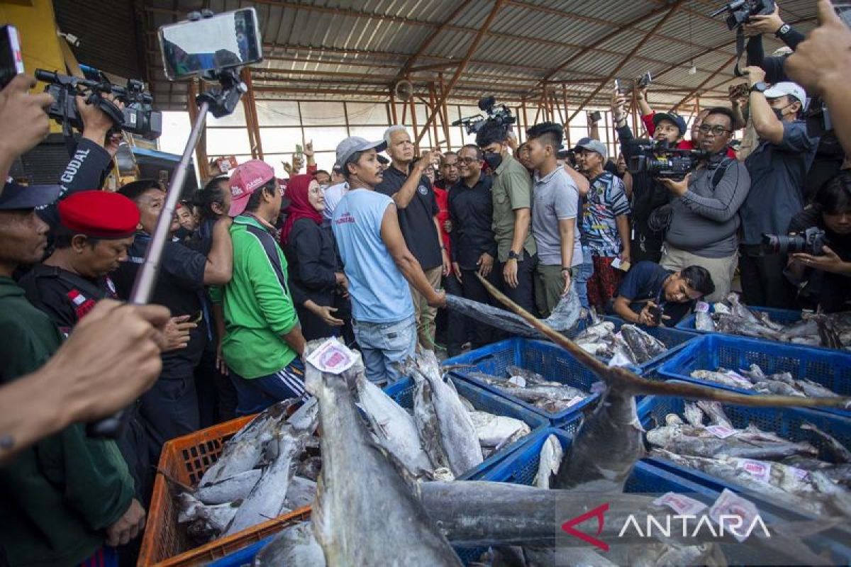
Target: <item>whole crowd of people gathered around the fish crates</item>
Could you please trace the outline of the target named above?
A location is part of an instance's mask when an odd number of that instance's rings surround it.
[[[0,564],[132,554],[163,443],[306,399],[307,341],[341,337],[383,386],[418,348],[453,356],[500,339],[445,310],[447,292],[496,304],[480,278],[541,317],[576,292],[585,309],[673,325],[724,298],[737,271],[745,303],[847,310],[851,31],[826,0],[820,20],[804,40],[776,13],[754,19],[746,94],[690,128],[637,93],[648,137],[702,150],[684,179],[626,167],[644,134],[617,91],[620,156],[593,135],[563,148],[552,122],[517,145],[488,121],[475,144],[420,156],[402,126],[346,138],[330,172],[310,145],[287,179],[243,162],[181,202],[151,305],[122,300],[165,190],[100,190],[112,122],[77,100],[83,133],[61,184],[0,193]],[[775,32],[794,54],[763,57],[759,34]],[[0,92],[4,178],[47,133],[51,100],[33,85],[21,75]],[[814,133],[804,113],[822,103],[833,129]],[[811,229],[820,250],[763,243]],[[117,439],[87,432],[123,406]]]

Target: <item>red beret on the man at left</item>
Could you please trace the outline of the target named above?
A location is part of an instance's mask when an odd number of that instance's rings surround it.
[[[139,224],[133,201],[110,191],[80,191],[59,201],[60,222],[76,234],[93,238],[127,238]]]

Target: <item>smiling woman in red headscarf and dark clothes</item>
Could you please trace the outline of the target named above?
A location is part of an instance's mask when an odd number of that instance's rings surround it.
[[[349,282],[337,261],[334,235],[322,226],[322,187],[310,175],[294,175],[287,184],[287,198],[281,245],[301,332],[308,341],[337,336],[344,321],[334,316],[334,304],[339,304],[336,296],[346,294]]]

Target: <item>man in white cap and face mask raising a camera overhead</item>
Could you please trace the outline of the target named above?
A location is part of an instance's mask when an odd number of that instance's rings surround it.
[[[768,88],[765,71],[745,67],[751,84],[750,108],[759,145],[745,160],[751,191],[742,205],[742,246],[739,269],[748,305],[789,309],[793,294],[783,276],[785,258],[765,255],[762,234],[782,234],[803,209],[804,179],[819,139],[810,138],[799,116],[807,94],[794,82]]]

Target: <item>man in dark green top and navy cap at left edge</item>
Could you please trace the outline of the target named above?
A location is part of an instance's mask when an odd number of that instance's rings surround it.
[[[59,329],[12,279],[39,261],[48,225],[35,213],[60,187],[7,184],[0,195],[0,383],[36,371],[59,349]],[[114,441],[73,424],[0,468],[0,547],[9,564],[76,565],[105,543],[125,544],[145,525],[134,484]]]

